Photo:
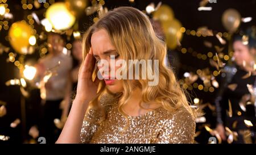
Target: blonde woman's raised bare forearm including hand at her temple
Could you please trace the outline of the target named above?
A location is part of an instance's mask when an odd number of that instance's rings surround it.
[[[79,143],[82,121],[90,100],[96,97],[99,80],[92,81],[95,58],[92,56],[92,48],[86,55],[79,70],[76,98],[73,100],[67,122],[56,143]]]

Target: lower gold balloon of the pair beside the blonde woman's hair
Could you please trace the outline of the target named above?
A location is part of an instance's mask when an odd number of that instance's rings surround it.
[[[177,47],[177,41],[180,41],[183,36],[183,33],[180,31],[181,23],[177,19],[169,20],[162,22],[162,27],[168,48],[175,49]]]

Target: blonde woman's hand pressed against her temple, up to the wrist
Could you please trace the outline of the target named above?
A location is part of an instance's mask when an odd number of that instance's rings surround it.
[[[86,55],[79,69],[79,78],[75,99],[82,103],[85,103],[85,101],[90,101],[96,97],[100,80],[96,77],[95,81],[92,81],[92,74],[95,64],[96,60],[93,57],[92,48],[90,48],[89,53]]]

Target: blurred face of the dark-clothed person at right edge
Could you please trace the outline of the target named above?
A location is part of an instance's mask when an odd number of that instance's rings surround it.
[[[234,60],[238,66],[243,66],[243,61],[246,64],[251,64],[254,61],[254,56],[250,53],[247,45],[243,45],[242,41],[235,41],[233,43]]]

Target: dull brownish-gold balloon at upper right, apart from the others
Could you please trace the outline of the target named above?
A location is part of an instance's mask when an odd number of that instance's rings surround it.
[[[235,9],[228,9],[222,14],[222,24],[229,32],[237,30],[241,23],[241,15]]]

